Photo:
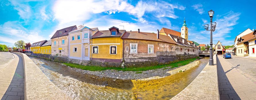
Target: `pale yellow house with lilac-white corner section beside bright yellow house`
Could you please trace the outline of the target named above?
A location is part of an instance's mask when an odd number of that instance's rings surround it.
[[[89,28],[83,25],[69,32],[69,58],[90,60],[90,36],[94,35],[98,28]]]

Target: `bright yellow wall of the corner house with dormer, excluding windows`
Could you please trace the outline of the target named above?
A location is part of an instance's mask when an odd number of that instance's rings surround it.
[[[102,37],[91,39],[92,46],[90,47],[90,52],[92,58],[102,58],[102,59],[122,59],[123,54],[123,40],[121,37]],[[113,44],[119,43],[119,44]],[[117,54],[110,54],[110,45],[117,46]],[[92,52],[92,47],[98,46],[98,54]]]

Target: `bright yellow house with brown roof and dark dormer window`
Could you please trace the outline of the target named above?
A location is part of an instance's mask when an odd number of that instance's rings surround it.
[[[123,40],[125,30],[111,27],[98,31],[91,38],[91,59],[103,62],[121,62],[123,57]]]

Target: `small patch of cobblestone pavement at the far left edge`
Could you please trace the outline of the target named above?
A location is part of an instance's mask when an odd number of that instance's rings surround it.
[[[14,59],[13,55],[9,52],[0,52],[0,66]]]

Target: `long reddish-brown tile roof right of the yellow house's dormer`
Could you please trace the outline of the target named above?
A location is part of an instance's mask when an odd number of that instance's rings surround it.
[[[141,40],[149,40],[149,41],[160,41],[166,43],[176,44],[169,36],[159,35],[159,39],[157,39],[157,34],[155,33],[147,33],[147,32],[139,32],[138,31],[129,31],[125,32],[121,37],[122,39],[141,39]]]

